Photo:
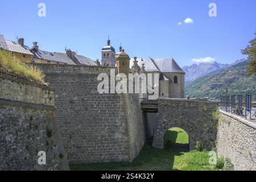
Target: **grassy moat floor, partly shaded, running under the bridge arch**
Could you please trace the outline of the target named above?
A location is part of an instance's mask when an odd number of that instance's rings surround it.
[[[167,131],[168,144],[164,150],[149,144],[131,163],[97,163],[72,165],[72,170],[84,171],[213,171],[209,165],[209,152],[188,151],[188,135],[181,129]]]

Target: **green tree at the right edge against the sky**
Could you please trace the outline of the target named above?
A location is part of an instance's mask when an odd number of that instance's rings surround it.
[[[256,31],[255,31],[256,35]],[[248,73],[249,75],[256,75],[256,38],[251,40],[250,45],[242,50],[243,55],[248,55],[249,62],[248,65]]]

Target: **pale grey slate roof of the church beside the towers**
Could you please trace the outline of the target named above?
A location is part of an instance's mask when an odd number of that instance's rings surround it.
[[[145,64],[145,70],[147,72],[154,72],[158,71],[158,69],[155,67],[154,63],[148,58],[148,59],[137,59],[138,65],[142,67],[142,64]],[[174,73],[185,73],[179,65],[176,63],[176,61],[172,58],[165,58],[165,59],[154,59],[156,65],[158,65],[158,68],[160,71],[164,73],[168,72],[174,72]],[[130,61],[130,68],[133,65],[133,59]]]

